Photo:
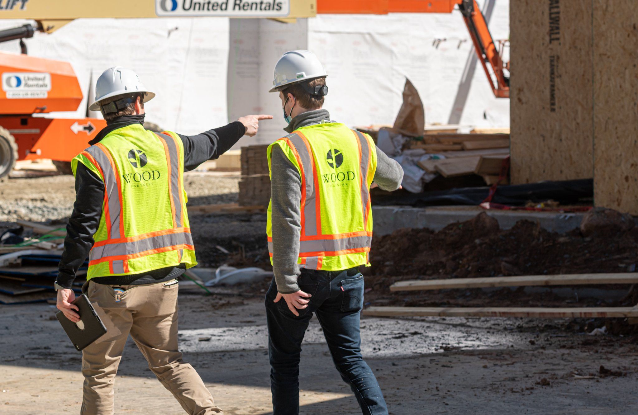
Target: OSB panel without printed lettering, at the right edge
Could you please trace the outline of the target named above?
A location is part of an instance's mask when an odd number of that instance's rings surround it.
[[[638,8],[594,4],[594,201],[638,215]]]

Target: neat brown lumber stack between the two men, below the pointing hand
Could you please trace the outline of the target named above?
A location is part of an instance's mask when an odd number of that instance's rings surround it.
[[[249,145],[241,149],[241,180],[239,205],[268,206],[271,200],[271,179],[266,158],[267,145]]]

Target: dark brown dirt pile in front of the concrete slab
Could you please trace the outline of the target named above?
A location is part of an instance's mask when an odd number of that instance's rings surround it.
[[[598,215],[596,228],[606,231],[590,231],[589,236],[580,229],[550,232],[526,220],[503,230],[484,212],[438,232],[399,229],[373,240],[374,266],[367,281],[374,283],[375,276],[434,279],[633,272],[638,263],[638,228],[618,226],[618,217],[611,216],[606,224],[605,216]]]

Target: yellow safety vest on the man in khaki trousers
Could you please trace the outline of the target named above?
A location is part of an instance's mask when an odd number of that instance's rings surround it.
[[[115,129],[71,161],[73,175],[77,163],[105,189],[87,279],[197,265],[177,134],[155,134],[140,124]]]

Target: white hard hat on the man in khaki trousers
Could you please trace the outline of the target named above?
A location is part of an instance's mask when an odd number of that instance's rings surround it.
[[[145,92],[144,102],[151,101],[155,96],[144,87],[140,77],[131,69],[114,66],[102,72],[95,85],[95,102],[89,106],[90,111],[100,111],[100,101],[117,95]]]

